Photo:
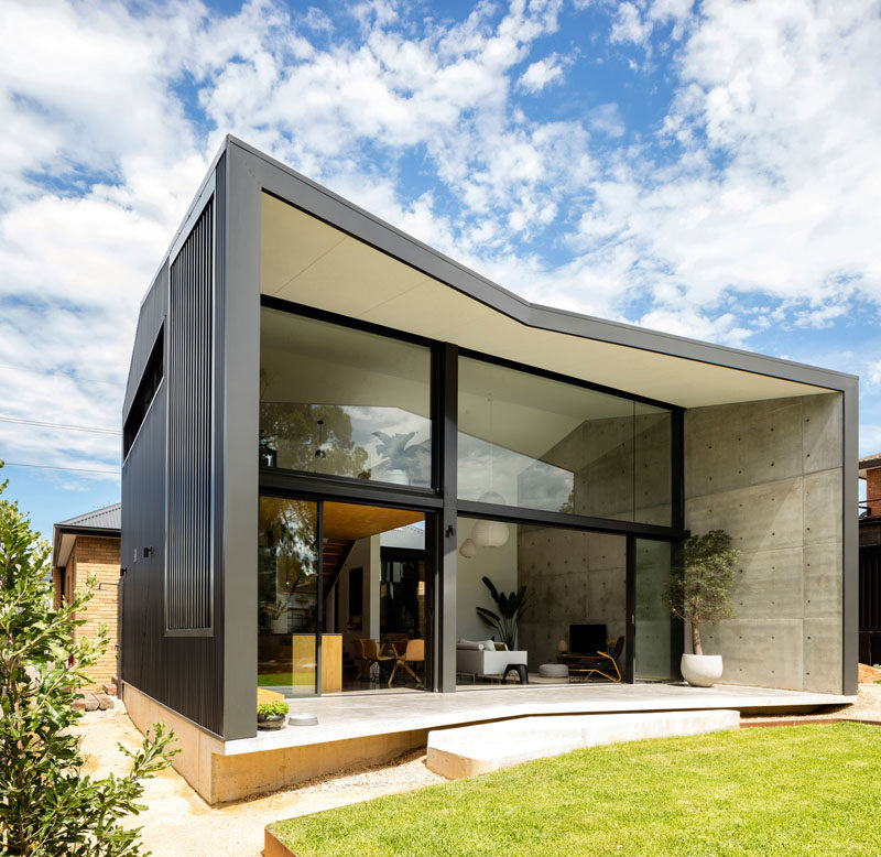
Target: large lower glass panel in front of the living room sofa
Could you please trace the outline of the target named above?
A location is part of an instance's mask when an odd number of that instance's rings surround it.
[[[516,650],[525,657],[529,671],[559,661],[575,677],[587,677],[577,655],[612,652],[620,675],[624,675],[627,632],[627,540],[623,535],[565,530],[554,527],[478,521],[457,522],[456,599],[459,640],[503,640],[503,632],[481,619],[477,607],[499,612],[483,577],[500,593],[526,588],[527,608],[516,628]],[[485,544],[489,536],[489,544]],[[482,546],[481,546],[482,545]],[[511,640],[507,641],[510,646]],[[474,659],[463,649],[457,670]],[[501,664],[503,668],[504,664]],[[618,672],[611,661],[603,671],[612,679]],[[592,677],[602,679],[595,674]],[[478,677],[479,681],[479,677]]]

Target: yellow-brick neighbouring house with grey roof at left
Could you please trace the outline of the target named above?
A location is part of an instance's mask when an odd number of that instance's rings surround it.
[[[120,503],[113,503],[69,518],[55,524],[52,540],[56,608],[85,586],[90,574],[98,578],[95,597],[85,609],[86,623],[75,631],[76,636],[90,637],[98,626],[107,626],[107,651],[89,671],[95,687],[112,684],[117,676],[120,517]]]

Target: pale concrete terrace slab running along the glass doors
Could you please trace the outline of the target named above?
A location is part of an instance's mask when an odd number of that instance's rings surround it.
[[[856,697],[764,687],[684,684],[568,684],[475,687],[455,694],[335,694],[289,699],[292,714],[314,714],[317,726],[221,744],[225,756],[305,747],[349,738],[437,729],[537,715],[613,714],[732,708],[744,712],[809,712],[846,705]]]

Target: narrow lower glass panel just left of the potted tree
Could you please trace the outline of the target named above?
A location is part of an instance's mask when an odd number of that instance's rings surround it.
[[[637,550],[637,681],[670,681],[678,677],[673,663],[673,634],[678,626],[664,600],[670,581],[671,552],[667,542],[635,540]]]

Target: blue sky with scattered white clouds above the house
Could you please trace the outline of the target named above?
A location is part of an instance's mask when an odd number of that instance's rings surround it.
[[[226,133],[531,301],[859,375],[878,452],[879,82],[881,0],[2,0],[6,496],[47,536],[119,500]]]

